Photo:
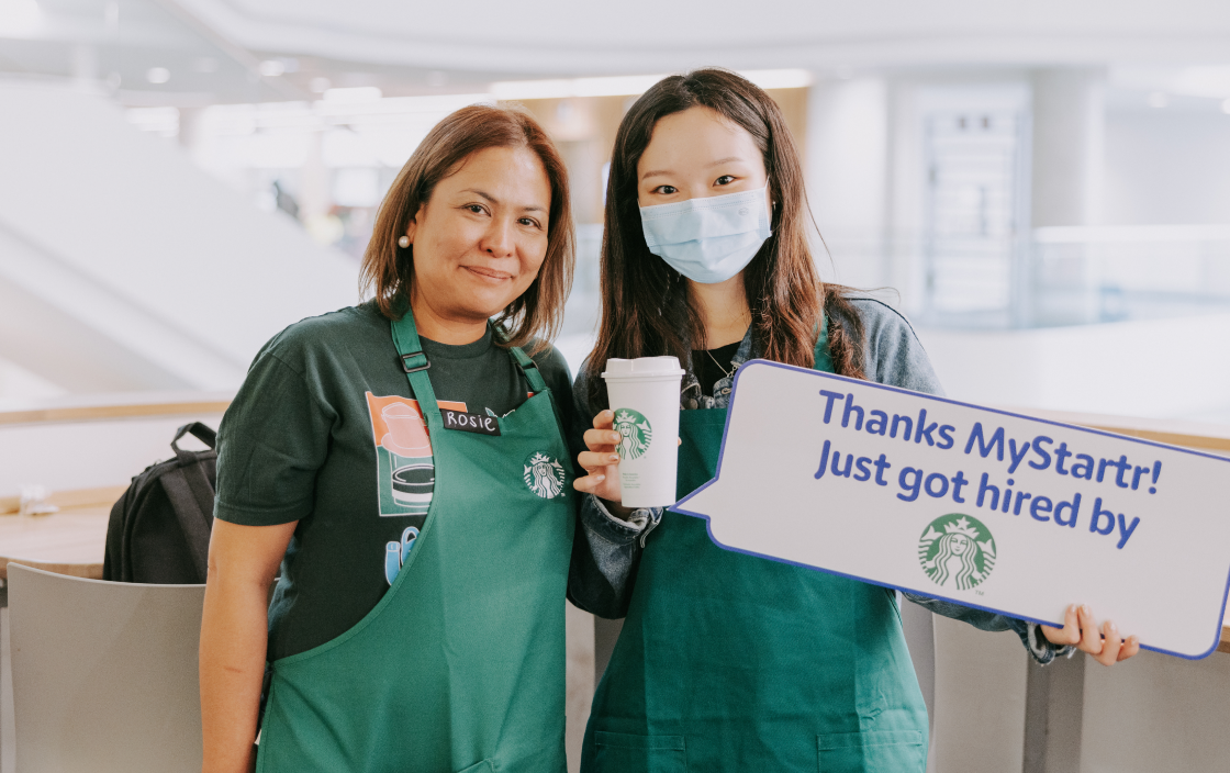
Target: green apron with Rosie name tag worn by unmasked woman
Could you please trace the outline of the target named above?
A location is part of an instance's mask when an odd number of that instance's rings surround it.
[[[498,436],[445,430],[408,312],[392,334],[432,439],[430,509],[367,617],[272,664],[257,771],[562,773],[576,494],[555,398],[514,348],[534,396]]]

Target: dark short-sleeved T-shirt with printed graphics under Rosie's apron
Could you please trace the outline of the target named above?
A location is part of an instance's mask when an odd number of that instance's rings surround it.
[[[423,339],[423,351],[443,407],[503,417],[528,397],[490,328],[460,347]],[[568,366],[550,347],[531,356],[567,438]],[[400,570],[399,546],[422,528],[433,485],[430,439],[389,320],[373,304],[304,320],[264,345],[219,430],[214,515],[299,521],[269,606],[271,660],[337,638],[375,607]]]

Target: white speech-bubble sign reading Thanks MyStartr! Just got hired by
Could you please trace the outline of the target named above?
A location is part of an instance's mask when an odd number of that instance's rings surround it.
[[[1090,605],[1204,657],[1230,458],[780,363],[734,380],[717,476],[674,511],[726,549],[1038,623]]]

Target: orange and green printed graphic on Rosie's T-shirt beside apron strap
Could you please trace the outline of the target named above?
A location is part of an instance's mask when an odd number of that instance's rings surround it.
[[[427,419],[418,401],[367,393],[371,436],[376,446],[376,490],[381,516],[426,515],[435,489],[435,463]],[[438,401],[440,408],[465,410],[465,403]]]

